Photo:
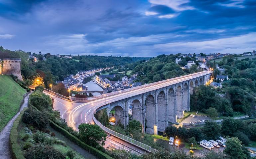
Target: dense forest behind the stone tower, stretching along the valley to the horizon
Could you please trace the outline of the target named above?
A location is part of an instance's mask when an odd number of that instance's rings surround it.
[[[37,57],[37,62],[30,56]],[[21,73],[25,82],[29,84],[35,76],[39,75],[44,79],[44,83],[64,80],[64,77],[70,74],[76,74],[80,70],[90,70],[93,68],[104,68],[106,66],[120,66],[136,62],[139,60],[147,60],[149,58],[137,57],[115,57],[115,56],[73,56],[72,59],[59,58],[47,54],[35,54],[22,50],[11,51],[0,47],[0,59],[2,58],[21,58]]]

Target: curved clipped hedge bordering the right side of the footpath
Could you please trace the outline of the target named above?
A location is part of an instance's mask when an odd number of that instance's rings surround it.
[[[23,156],[23,152],[21,150],[20,145],[18,144],[18,130],[20,123],[22,121],[22,116],[25,110],[27,110],[28,107],[25,107],[19,114],[19,116],[16,118],[16,120],[13,122],[13,126],[10,131],[10,147],[11,147],[11,153],[14,159],[25,159]]]

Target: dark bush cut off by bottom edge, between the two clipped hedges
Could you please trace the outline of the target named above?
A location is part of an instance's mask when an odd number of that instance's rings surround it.
[[[26,159],[65,159],[65,155],[53,146],[35,144],[25,153]]]

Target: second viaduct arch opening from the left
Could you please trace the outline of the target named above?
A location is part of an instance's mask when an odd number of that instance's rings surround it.
[[[141,124],[143,123],[142,120],[142,107],[141,107],[141,103],[138,99],[135,99],[132,101],[132,119],[133,120],[137,120],[139,121]]]

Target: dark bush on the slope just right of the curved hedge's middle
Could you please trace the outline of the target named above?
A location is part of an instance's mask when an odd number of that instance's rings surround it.
[[[42,130],[48,126],[48,117],[46,114],[45,111],[40,112],[33,108],[29,108],[24,112],[22,120],[24,123],[32,124],[34,127]]]

